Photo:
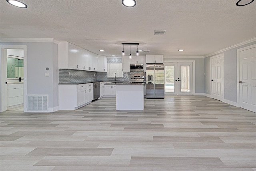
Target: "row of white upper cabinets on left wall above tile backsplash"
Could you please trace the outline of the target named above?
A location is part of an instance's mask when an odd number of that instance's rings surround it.
[[[60,42],[58,68],[98,71],[98,55],[69,42]]]

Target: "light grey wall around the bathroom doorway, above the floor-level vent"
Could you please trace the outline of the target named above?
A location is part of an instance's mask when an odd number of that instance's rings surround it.
[[[53,42],[0,42],[0,45],[27,46],[26,95],[48,95],[49,111],[57,109],[58,45]],[[45,72],[49,72],[49,77],[45,77]]]

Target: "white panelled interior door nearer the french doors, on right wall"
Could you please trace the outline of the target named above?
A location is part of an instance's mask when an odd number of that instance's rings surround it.
[[[211,63],[211,97],[223,101],[223,54],[210,58]]]

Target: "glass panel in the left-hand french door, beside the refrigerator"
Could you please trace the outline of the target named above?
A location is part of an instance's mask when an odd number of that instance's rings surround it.
[[[174,92],[174,66],[165,66],[165,91]]]

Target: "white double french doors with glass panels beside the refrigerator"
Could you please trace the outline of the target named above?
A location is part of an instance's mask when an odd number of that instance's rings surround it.
[[[193,63],[170,62],[165,64],[165,95],[193,94]]]

